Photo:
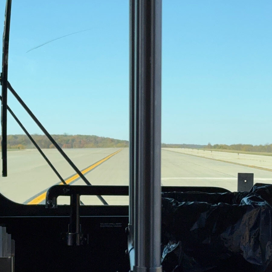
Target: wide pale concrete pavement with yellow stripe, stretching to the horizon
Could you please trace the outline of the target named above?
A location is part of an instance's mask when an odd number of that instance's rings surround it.
[[[92,185],[128,185],[128,148],[64,151],[80,170],[85,171],[85,176]],[[44,152],[67,183],[85,184],[55,149]],[[161,183],[165,186],[217,186],[236,191],[238,172],[254,173],[255,183],[272,183],[271,169],[245,166],[242,160],[238,165],[231,158],[226,162],[226,156],[224,161],[220,161],[216,157],[211,159],[184,154],[177,149],[162,149]],[[261,157],[264,158],[263,163],[258,162],[259,167],[266,169],[270,157]],[[0,178],[0,192],[4,196],[18,203],[44,203],[46,190],[54,184],[60,184],[60,181],[36,150],[8,152],[8,177]],[[126,196],[104,198],[111,205],[128,204]],[[81,200],[84,204],[101,204],[96,196],[82,196]],[[68,204],[69,200],[67,197],[60,197],[58,203]]]

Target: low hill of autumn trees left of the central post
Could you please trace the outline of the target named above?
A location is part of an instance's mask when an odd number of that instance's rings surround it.
[[[54,148],[45,135],[31,135],[40,148]],[[91,148],[91,147],[128,147],[128,141],[95,135],[52,135],[62,148]],[[0,137],[2,140],[2,138]],[[8,149],[35,148],[26,135],[8,135]]]

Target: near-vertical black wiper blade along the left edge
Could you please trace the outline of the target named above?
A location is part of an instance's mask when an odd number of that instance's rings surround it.
[[[3,55],[2,55],[2,108],[1,108],[1,124],[2,124],[2,176],[8,175],[7,167],[7,105],[8,105],[8,44],[9,44],[9,27],[11,14],[11,0],[6,2],[5,25],[3,34]]]

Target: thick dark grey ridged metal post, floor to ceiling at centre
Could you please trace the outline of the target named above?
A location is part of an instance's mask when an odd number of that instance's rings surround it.
[[[137,0],[135,6],[135,266],[159,272],[161,236],[161,0]],[[137,163],[136,163],[137,165]],[[138,172],[137,172],[138,170]]]

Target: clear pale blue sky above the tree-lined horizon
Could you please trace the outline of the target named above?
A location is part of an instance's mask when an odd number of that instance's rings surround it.
[[[270,0],[163,1],[163,142],[272,143],[271,25]],[[13,0],[8,79],[50,133],[128,139],[128,0]]]

